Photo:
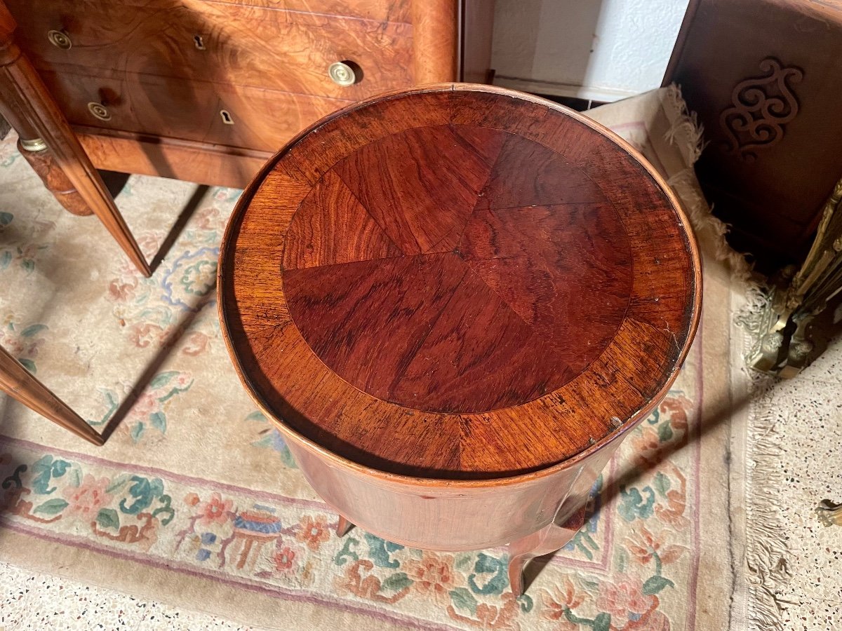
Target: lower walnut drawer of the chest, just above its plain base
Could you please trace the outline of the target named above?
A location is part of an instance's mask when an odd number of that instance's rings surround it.
[[[72,125],[278,151],[349,101],[174,77],[41,72]]]

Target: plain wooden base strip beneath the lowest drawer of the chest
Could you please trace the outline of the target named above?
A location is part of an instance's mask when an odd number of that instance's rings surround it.
[[[106,171],[140,173],[186,182],[245,188],[271,154],[237,147],[209,146],[157,136],[102,135],[76,128],[93,162]]]

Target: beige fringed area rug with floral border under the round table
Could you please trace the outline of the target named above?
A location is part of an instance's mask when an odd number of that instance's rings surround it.
[[[606,122],[668,175],[688,167],[660,129],[680,108],[642,99]],[[704,412],[727,390],[716,297],[674,389],[594,485],[585,527],[514,598],[504,549],[333,532],[221,339],[216,257],[238,191],[130,178],[117,201],[148,257],[179,224],[142,278],[96,219],[59,208],[15,140],[0,143],[0,344],[94,427],[121,421],[95,448],[0,395],[3,559],[267,628],[727,627],[727,436]]]

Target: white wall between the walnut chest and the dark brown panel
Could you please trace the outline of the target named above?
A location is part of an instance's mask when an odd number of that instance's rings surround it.
[[[658,87],[689,0],[496,0],[494,83],[613,101]]]

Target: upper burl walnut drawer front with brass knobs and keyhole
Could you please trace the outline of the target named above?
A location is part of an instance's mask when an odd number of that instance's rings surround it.
[[[409,24],[189,0],[8,5],[41,70],[120,70],[350,100],[413,80]],[[353,85],[328,76],[336,61],[357,66]]]

